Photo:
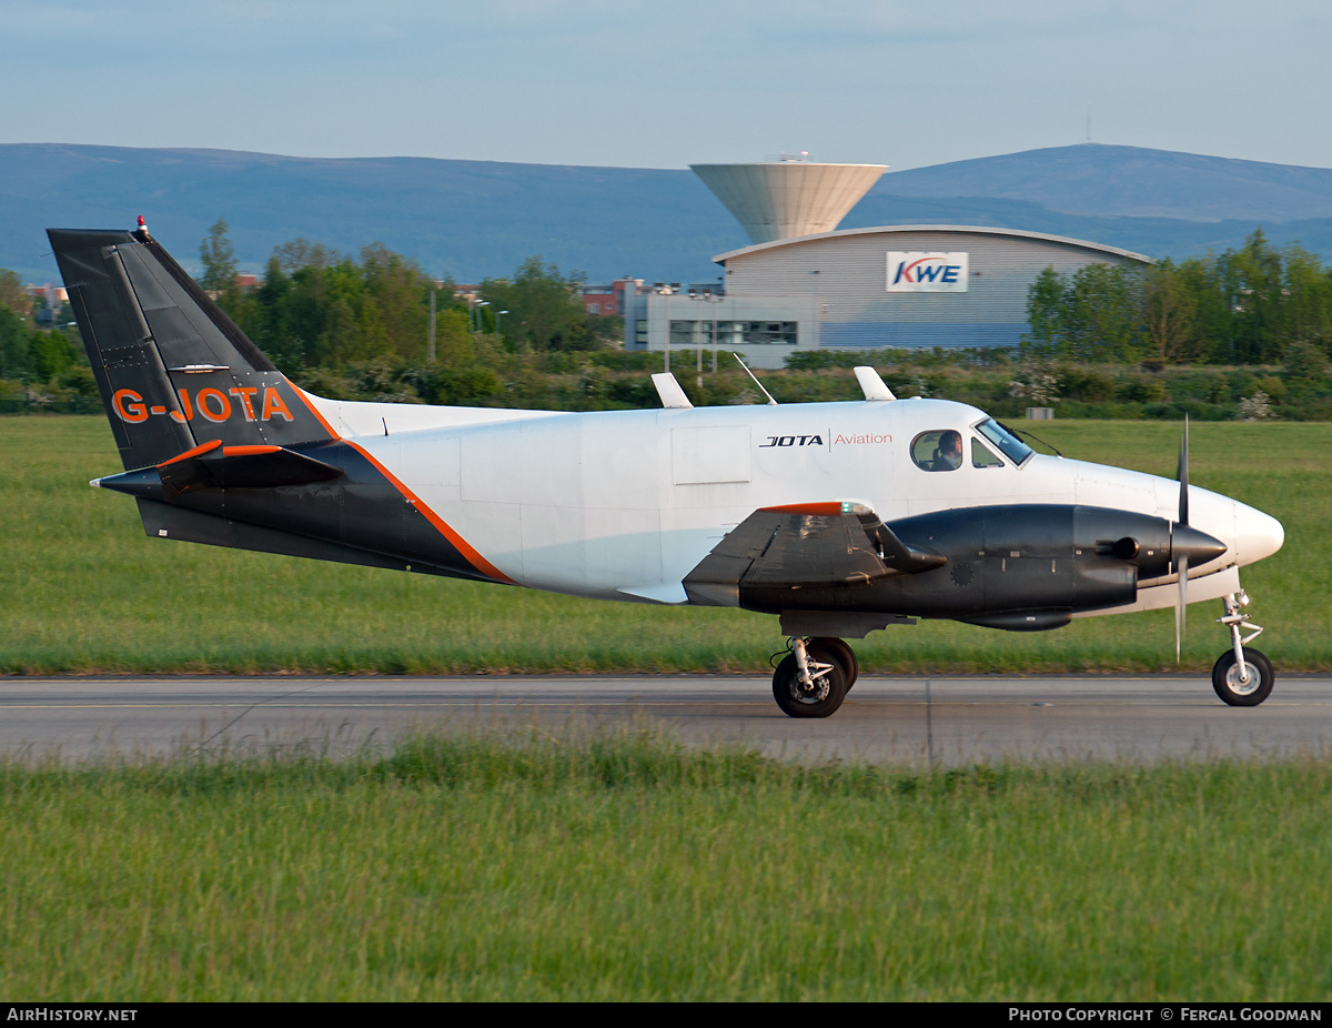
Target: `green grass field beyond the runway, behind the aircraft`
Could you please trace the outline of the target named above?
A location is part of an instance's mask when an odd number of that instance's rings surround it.
[[[1055,421],[1067,455],[1172,475],[1179,426]],[[1277,671],[1332,668],[1332,425],[1196,423],[1191,481],[1285,525],[1244,571]],[[734,610],[598,603],[500,586],[144,537],[100,417],[0,418],[0,672],[761,671],[777,619]],[[1191,607],[1184,667],[1225,646],[1219,603]],[[1040,634],[952,622],[875,633],[871,671],[1143,671],[1173,667],[1169,611]]]

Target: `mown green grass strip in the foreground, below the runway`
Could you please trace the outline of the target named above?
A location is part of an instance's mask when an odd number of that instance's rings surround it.
[[[1329,1000],[1332,763],[0,766],[0,993]]]

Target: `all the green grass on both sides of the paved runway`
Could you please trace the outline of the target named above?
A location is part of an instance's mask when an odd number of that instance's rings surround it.
[[[1055,422],[1173,471],[1177,430]],[[1287,527],[1245,571],[1332,667],[1332,426],[1195,425]],[[774,618],[147,539],[101,418],[0,418],[0,672],[759,670]],[[1224,637],[1192,609],[1185,663]],[[1173,666],[1169,611],[876,633],[878,670]],[[1329,1000],[1332,760],[904,772],[657,736],[0,763],[0,995],[63,1000]]]

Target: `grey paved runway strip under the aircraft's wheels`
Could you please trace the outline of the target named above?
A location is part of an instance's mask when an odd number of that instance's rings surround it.
[[[27,758],[345,754],[414,730],[645,726],[786,759],[912,766],[1276,756],[1332,748],[1332,678],[1277,678],[1255,708],[1227,707],[1203,676],[862,678],[826,720],[785,716],[766,678],[0,679],[0,754]]]

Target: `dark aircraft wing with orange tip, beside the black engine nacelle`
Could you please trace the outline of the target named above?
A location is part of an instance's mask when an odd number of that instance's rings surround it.
[[[798,503],[755,510],[683,585],[694,603],[737,606],[741,590],[854,587],[944,562],[903,543],[866,503]]]

